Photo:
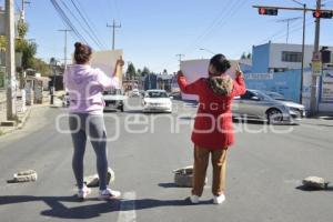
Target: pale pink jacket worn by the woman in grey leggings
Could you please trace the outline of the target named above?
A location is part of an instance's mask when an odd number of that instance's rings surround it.
[[[118,78],[110,78],[89,64],[69,65],[63,73],[64,89],[70,97],[70,111],[103,114],[103,91],[119,88]]]

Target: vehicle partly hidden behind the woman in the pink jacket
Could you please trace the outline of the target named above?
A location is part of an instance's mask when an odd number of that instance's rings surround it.
[[[123,95],[121,89],[112,89],[104,91],[103,99],[105,102],[105,111],[120,110],[121,112],[123,112],[124,100],[127,99],[127,97]]]

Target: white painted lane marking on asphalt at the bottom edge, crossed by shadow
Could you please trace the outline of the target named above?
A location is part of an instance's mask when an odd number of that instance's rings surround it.
[[[120,203],[120,212],[118,215],[118,222],[135,222],[135,192],[125,192],[123,200]]]

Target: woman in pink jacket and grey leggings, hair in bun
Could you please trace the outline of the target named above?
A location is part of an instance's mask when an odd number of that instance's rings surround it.
[[[83,157],[87,138],[90,139],[97,155],[97,170],[99,174],[99,199],[107,200],[119,198],[119,191],[108,188],[108,151],[107,132],[103,119],[103,97],[107,89],[119,88],[119,80],[115,77],[118,67],[123,65],[120,58],[114,72],[108,77],[100,69],[90,65],[92,50],[89,46],[77,42],[74,44],[74,61],[63,74],[64,88],[70,98],[69,127],[73,143],[72,169],[79,188],[78,198],[85,199],[91,192],[83,183]]]

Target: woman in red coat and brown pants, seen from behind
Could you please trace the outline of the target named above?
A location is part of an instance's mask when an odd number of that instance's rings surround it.
[[[213,203],[225,200],[226,151],[234,143],[231,105],[234,97],[245,93],[243,74],[238,67],[235,80],[225,72],[231,68],[223,54],[210,60],[209,77],[188,84],[182,71],[178,83],[183,93],[199,95],[192,142],[194,143],[194,175],[190,201],[199,203],[203,192],[206,168],[211,154],[213,165]]]

